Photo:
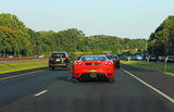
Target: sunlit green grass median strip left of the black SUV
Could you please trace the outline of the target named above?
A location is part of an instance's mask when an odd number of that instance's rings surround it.
[[[23,71],[23,70],[37,69],[37,67],[45,67],[45,66],[48,66],[48,61],[8,63],[8,64],[3,63],[3,64],[0,64],[0,74]]]

